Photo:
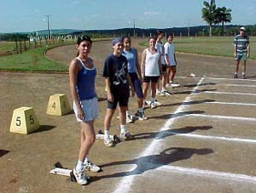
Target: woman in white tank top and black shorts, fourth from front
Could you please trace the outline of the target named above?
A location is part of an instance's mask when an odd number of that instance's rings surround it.
[[[148,38],[149,48],[143,50],[142,55],[142,76],[143,76],[143,95],[144,100],[147,98],[149,84],[151,82],[151,98],[150,108],[154,109],[156,84],[162,75],[162,65],[160,63],[160,54],[155,49],[156,39],[154,37]]]

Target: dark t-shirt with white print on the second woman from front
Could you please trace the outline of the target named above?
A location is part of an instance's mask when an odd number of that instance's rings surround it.
[[[105,60],[102,76],[109,77],[110,89],[112,93],[121,92],[124,94],[125,90],[128,90],[129,94],[129,84],[126,80],[126,75],[128,73],[127,59],[125,56],[116,56],[111,54]],[[126,94],[127,92],[125,92]]]

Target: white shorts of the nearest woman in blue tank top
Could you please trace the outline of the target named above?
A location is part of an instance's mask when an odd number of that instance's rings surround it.
[[[78,107],[73,102],[73,111],[76,115],[78,122],[89,122],[96,119],[99,116],[98,98],[84,99],[80,101],[81,107],[84,111],[84,120],[81,120],[78,116]]]

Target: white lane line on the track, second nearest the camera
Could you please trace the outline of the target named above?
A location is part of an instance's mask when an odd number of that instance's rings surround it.
[[[187,137],[187,138],[223,140],[223,141],[231,141],[231,142],[238,142],[238,143],[256,144],[256,139],[219,137],[219,136],[193,134],[193,133],[177,133],[177,132],[172,132],[172,131],[168,131],[167,133],[171,133],[175,136],[181,136],[181,137]]]

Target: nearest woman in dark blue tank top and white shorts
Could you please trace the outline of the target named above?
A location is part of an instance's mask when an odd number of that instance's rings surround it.
[[[81,145],[79,161],[73,168],[73,174],[79,184],[87,184],[88,177],[84,170],[99,172],[100,167],[89,161],[90,147],[94,144],[96,133],[94,120],[98,116],[98,99],[96,97],[95,79],[96,68],[90,59],[90,37],[79,37],[78,54],[69,65],[69,84],[73,98],[73,111],[81,127]]]

